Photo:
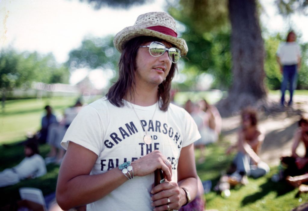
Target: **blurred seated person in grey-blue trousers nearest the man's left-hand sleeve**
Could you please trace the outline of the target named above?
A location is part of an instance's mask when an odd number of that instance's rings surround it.
[[[78,112],[82,108],[82,103],[77,100],[74,106],[65,109],[64,118],[59,124],[51,124],[49,126],[49,133],[47,136],[47,143],[51,146],[50,152],[45,159],[46,163],[49,164],[54,162],[56,164],[61,164],[65,150],[61,146],[61,141],[70,126],[71,122],[77,116]]]

